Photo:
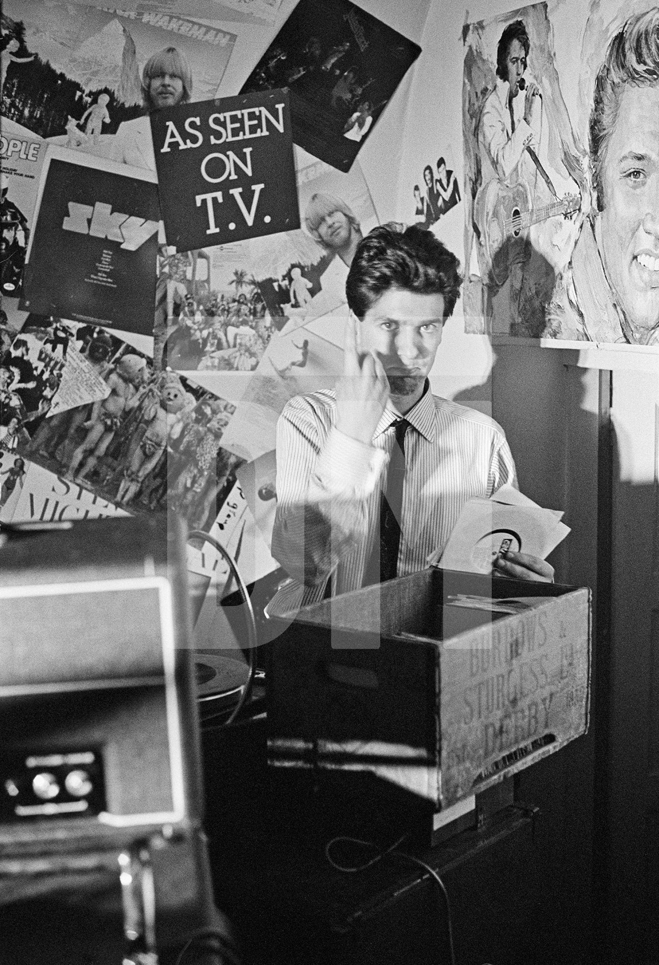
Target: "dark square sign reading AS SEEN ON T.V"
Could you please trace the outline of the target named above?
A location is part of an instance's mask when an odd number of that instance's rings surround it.
[[[178,251],[300,226],[286,91],[151,114],[167,243]]]

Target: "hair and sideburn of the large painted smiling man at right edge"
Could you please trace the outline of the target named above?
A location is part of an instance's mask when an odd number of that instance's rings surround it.
[[[626,84],[659,85],[659,9],[630,17],[609,44],[597,72],[590,112],[590,163],[597,207],[604,209],[602,167],[618,123],[620,97]]]

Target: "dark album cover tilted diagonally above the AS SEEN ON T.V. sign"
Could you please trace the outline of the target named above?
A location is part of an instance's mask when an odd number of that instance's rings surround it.
[[[348,0],[300,0],[240,93],[288,87],[295,144],[347,171],[420,53]]]

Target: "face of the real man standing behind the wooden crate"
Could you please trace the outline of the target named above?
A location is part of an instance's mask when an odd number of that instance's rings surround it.
[[[410,396],[426,381],[443,328],[444,295],[390,289],[358,323],[358,347],[378,356],[393,396]]]

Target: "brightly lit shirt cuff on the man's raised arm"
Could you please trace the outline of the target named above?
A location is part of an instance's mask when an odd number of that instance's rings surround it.
[[[388,456],[333,427],[316,462],[314,483],[335,496],[369,496]]]

